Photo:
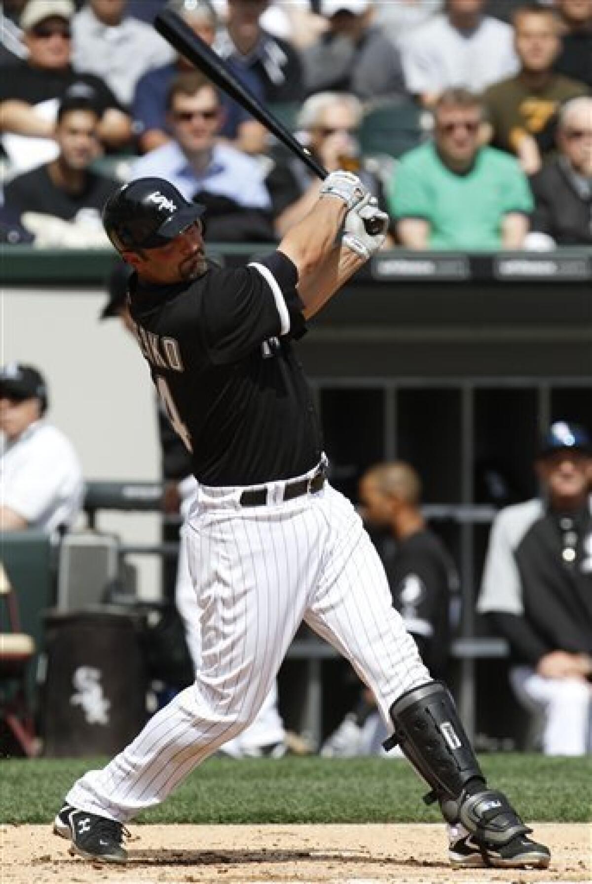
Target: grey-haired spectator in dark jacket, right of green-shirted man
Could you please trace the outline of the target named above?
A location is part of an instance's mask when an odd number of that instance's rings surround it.
[[[592,98],[567,102],[559,114],[558,154],[530,182],[533,234],[554,246],[592,245]]]

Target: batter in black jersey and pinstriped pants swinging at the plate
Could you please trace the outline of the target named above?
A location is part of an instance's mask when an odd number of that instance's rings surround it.
[[[292,346],[380,248],[388,218],[360,179],[334,171],[276,251],[219,269],[204,255],[202,214],[163,179],[128,183],[103,212],[136,271],[141,352],[193,452],[197,492],[185,530],[201,668],[110,764],[74,783],[56,833],[82,857],[124,862],[127,820],[254,720],[304,620],[373,691],[392,743],[445,819],[466,827],[471,865],[546,867],[549,850],[487,786],[450,693],[421,662],[360,516],[327,482]]]

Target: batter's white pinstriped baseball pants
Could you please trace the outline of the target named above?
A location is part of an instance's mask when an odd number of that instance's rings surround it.
[[[277,502],[284,484],[267,484],[265,507],[240,507],[242,488],[199,487],[186,530],[201,671],[109,765],[74,783],[70,804],[125,822],[163,801],[254,720],[302,620],[352,663],[385,720],[429,681],[352,504],[328,483]]]

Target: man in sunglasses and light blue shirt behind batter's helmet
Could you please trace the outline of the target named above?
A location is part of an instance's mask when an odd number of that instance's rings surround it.
[[[220,138],[224,109],[217,89],[201,72],[178,74],[166,107],[171,141],[141,156],[131,177],[167,179],[187,200],[199,200],[207,207],[210,240],[273,240],[264,169]]]

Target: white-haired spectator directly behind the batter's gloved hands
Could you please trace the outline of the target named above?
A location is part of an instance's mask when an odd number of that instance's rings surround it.
[[[363,106],[345,92],[310,95],[296,120],[297,135],[327,171],[355,172],[385,209],[384,190],[394,162],[389,157],[361,156],[358,132]],[[290,151],[277,145],[269,151],[272,168],[266,179],[278,237],[312,209],[323,183]],[[387,238],[387,244],[391,238]]]

